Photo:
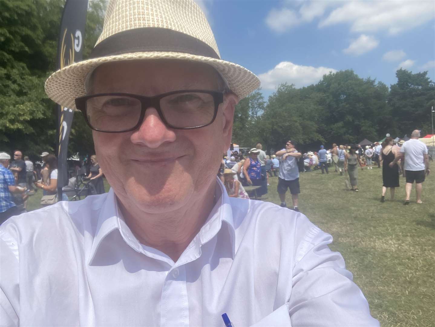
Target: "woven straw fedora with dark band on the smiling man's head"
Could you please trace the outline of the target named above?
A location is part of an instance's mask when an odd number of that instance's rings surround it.
[[[76,109],[74,99],[86,95],[86,79],[97,66],[144,59],[209,64],[239,99],[260,86],[254,73],[221,60],[210,25],[193,0],[111,0],[90,58],[51,74],[45,91],[59,105]]]

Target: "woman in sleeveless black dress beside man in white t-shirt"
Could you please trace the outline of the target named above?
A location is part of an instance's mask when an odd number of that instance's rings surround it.
[[[393,147],[393,139],[388,137],[382,142],[382,151],[379,160],[382,160],[382,196],[381,202],[385,202],[385,192],[390,188],[391,201],[394,200],[395,188],[399,187],[399,167],[397,164],[390,168],[389,164],[399,155],[396,147]]]

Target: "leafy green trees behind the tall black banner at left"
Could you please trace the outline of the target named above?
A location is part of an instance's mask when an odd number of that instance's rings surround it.
[[[36,158],[41,151],[55,150],[56,105],[47,98],[43,86],[56,69],[57,38],[64,3],[65,0],[0,0],[2,151],[20,148]],[[89,54],[90,44],[94,46],[100,33],[105,6],[104,0],[90,1],[85,55]],[[80,118],[73,125],[74,132],[71,135],[77,140],[73,140],[72,148],[69,148],[77,152],[79,144],[89,143],[82,142],[80,138],[90,138],[91,134],[89,130],[83,130],[84,124]],[[86,149],[79,149],[94,151],[93,145],[89,144]]]

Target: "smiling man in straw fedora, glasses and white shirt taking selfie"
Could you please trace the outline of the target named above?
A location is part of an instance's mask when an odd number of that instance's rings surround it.
[[[1,324],[378,325],[330,235],[216,177],[259,84],[193,1],[111,1],[90,59],[45,86],[84,114],[111,189],[1,226]]]

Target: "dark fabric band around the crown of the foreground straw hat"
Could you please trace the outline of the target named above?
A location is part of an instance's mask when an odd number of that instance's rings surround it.
[[[89,58],[153,51],[181,52],[220,59],[205,42],[191,35],[160,27],[134,28],[110,35],[94,47]]]

